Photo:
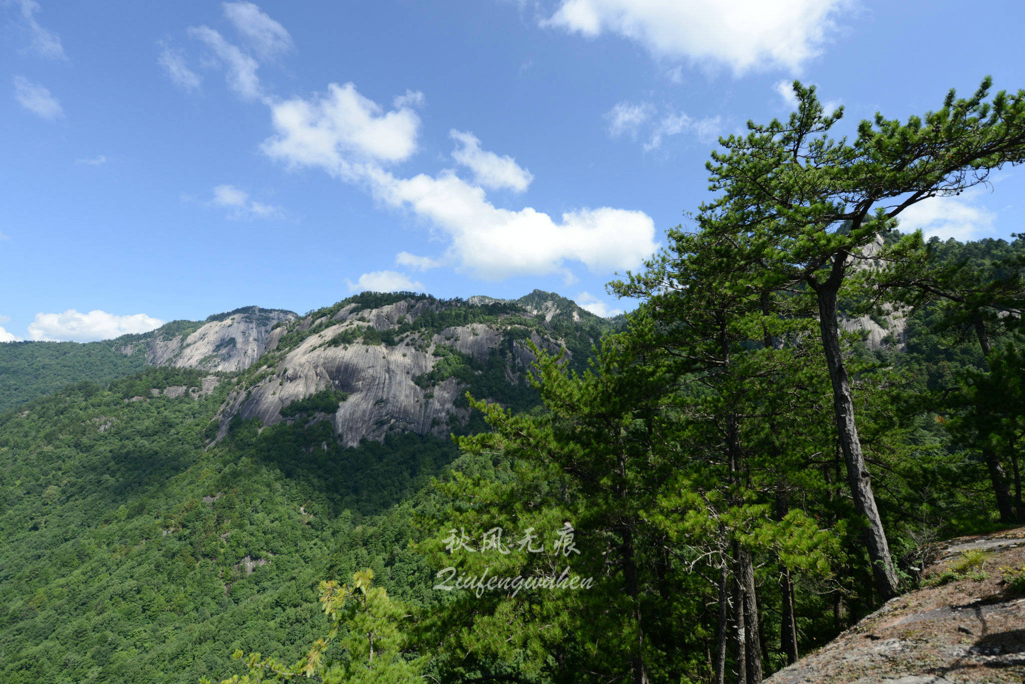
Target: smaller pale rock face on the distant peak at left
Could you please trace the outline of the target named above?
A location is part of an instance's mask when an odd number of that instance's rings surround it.
[[[147,351],[147,363],[204,370],[245,370],[277,343],[272,328],[281,321],[295,320],[290,311],[249,307],[227,317],[208,320],[182,338],[154,336]],[[279,328],[280,330],[280,328]]]

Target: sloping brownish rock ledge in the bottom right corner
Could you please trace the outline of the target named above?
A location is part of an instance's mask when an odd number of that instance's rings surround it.
[[[971,556],[969,556],[971,554]],[[1025,680],[1025,528],[952,539],[925,589],[897,597],[767,684],[953,684]],[[954,573],[972,559],[969,572]]]

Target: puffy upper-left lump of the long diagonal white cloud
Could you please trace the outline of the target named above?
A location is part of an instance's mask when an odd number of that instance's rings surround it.
[[[408,104],[384,113],[352,83],[332,83],[326,95],[296,98],[271,108],[276,137],[263,152],[291,166],[320,166],[355,178],[361,162],[400,162],[416,152],[420,117]]]

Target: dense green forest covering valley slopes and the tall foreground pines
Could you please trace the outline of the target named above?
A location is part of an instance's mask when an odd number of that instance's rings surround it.
[[[1025,522],[1025,238],[899,231],[1025,161],[1025,93],[836,140],[843,109],[794,90],[610,284],[640,301],[625,328],[555,321],[574,363],[534,347],[529,392],[506,357],[439,346],[418,383],[489,399],[452,440],[342,448],[305,419],[329,392],[214,441],[255,367],[198,399],[145,392],[200,383],[161,368],[0,415],[0,677],[753,684],[918,586],[937,539]],[[265,365],[410,294],[288,323]],[[880,346],[840,332],[859,317]],[[470,320],[527,344],[522,318],[454,306],[342,344]]]

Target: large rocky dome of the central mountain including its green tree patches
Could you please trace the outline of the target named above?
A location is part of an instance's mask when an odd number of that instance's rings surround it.
[[[527,340],[564,349],[569,363],[579,363],[611,327],[568,299],[532,295],[547,298],[529,308],[488,297],[364,293],[279,324],[229,397],[219,434],[236,416],[263,425],[328,419],[352,446],[389,432],[447,434],[469,417],[467,389],[523,407],[533,395]],[[559,314],[571,324],[560,325]]]

